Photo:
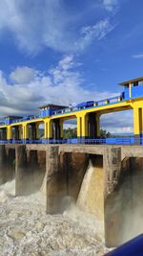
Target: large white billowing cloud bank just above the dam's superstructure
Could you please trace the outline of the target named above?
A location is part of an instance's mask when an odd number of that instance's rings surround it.
[[[47,103],[69,105],[114,95],[107,91],[98,93],[96,90],[84,89],[81,74],[74,71],[75,66],[73,57],[67,56],[47,73],[35,70],[34,76],[27,83],[24,83],[23,76],[20,76],[19,72],[17,75],[17,68],[11,73],[14,74],[14,80],[16,79],[14,83],[8,82],[1,71],[1,115],[32,113],[39,105]],[[18,67],[19,69],[20,67]],[[26,67],[22,67],[20,71],[23,69],[26,70]],[[26,79],[29,79],[29,75]]]

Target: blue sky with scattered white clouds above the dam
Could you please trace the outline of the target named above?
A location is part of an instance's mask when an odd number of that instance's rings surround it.
[[[141,0],[1,1],[1,115],[112,97],[118,82],[143,76],[142,10]],[[132,131],[125,117],[104,126]]]

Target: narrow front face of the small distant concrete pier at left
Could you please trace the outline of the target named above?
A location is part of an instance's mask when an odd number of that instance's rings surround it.
[[[15,196],[26,195],[27,192],[27,151],[25,145],[15,148]]]

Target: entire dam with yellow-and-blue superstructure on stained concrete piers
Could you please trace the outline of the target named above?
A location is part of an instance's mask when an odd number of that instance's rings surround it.
[[[143,195],[143,78],[121,85],[117,97],[74,107],[44,105],[39,116],[0,121],[0,185],[15,178],[17,197],[42,187],[51,215],[64,212],[64,198],[72,198],[99,221],[108,247],[126,241],[125,221]],[[133,136],[101,138],[100,116],[129,109]],[[77,137],[65,139],[63,124],[70,119],[76,119]]]

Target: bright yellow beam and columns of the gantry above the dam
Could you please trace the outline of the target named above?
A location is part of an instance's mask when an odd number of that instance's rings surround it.
[[[65,120],[76,118],[77,120],[77,137],[86,137],[88,134],[88,114],[96,113],[96,123],[97,123],[97,135],[99,136],[99,118],[102,114],[112,113],[116,111],[123,111],[133,109],[133,128],[134,135],[139,135],[143,132],[143,98],[128,100],[126,102],[118,102],[112,105],[102,105],[102,106],[93,106],[92,108],[82,109],[79,111],[71,113],[63,113],[51,117],[38,118],[29,121],[17,122],[8,126],[1,126],[0,129],[6,129],[7,139],[12,139],[12,128],[20,127],[22,128],[22,139],[29,139],[29,126],[31,124],[36,124],[37,128],[39,124],[44,124],[44,137],[51,138],[51,125],[52,122],[56,119],[60,120],[61,126],[61,137],[63,136],[63,123]],[[38,131],[37,131],[38,133]]]

